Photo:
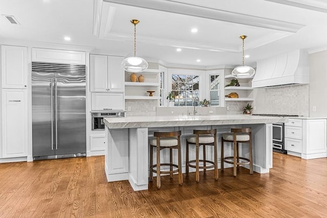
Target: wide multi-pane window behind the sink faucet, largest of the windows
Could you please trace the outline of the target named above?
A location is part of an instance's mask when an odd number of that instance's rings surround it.
[[[199,75],[172,74],[172,91],[176,94],[175,106],[193,106],[200,94]]]

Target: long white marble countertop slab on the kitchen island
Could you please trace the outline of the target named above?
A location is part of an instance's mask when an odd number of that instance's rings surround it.
[[[287,123],[287,117],[248,115],[105,117],[109,129]]]

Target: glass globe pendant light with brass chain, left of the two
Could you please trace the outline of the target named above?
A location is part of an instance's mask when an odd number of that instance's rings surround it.
[[[125,58],[122,62],[122,67],[127,72],[143,72],[148,68],[148,62],[143,58],[136,57],[136,25],[139,20],[131,20],[134,25],[134,57]]]

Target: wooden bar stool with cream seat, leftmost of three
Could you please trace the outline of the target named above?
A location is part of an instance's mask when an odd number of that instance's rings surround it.
[[[160,188],[160,174],[173,174],[178,172],[178,183],[183,183],[181,169],[181,150],[180,150],[180,135],[181,131],[176,132],[154,132],[154,137],[150,138],[150,181],[153,179],[153,173],[157,174],[157,187]],[[153,164],[153,149],[156,148],[157,164]],[[160,151],[169,149],[169,163],[160,163]],[[173,149],[177,149],[178,165],[173,164]],[[161,171],[160,166],[170,166],[170,171]],[[154,169],[156,167],[156,169]],[[175,169],[174,169],[175,167]]]

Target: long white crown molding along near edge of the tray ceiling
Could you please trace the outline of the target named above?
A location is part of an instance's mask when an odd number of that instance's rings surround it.
[[[213,8],[206,8],[195,6],[191,4],[178,3],[172,1],[153,1],[153,0],[138,0],[138,1],[121,1],[121,0],[103,0],[108,3],[115,3],[119,5],[128,5],[140,8],[147,8],[158,11],[165,11],[177,14],[184,14],[195,17],[202,17],[207,19],[214,19],[220,21],[227,21],[238,23],[241,25],[260,27],[278,31],[285,31],[296,33],[299,29],[304,27],[296,23],[285,22],[280,20],[268,19],[263,17],[251,16],[247,14],[234,13],[229,11],[217,10]]]

